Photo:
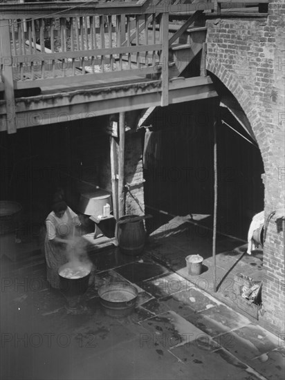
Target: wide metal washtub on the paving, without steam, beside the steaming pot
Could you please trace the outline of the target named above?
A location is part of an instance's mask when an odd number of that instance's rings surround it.
[[[98,290],[100,303],[109,316],[129,315],[136,306],[138,289],[129,283],[109,283]]]

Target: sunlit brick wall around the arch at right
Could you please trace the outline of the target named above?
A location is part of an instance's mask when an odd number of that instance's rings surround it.
[[[246,113],[264,161],[264,210],[284,209],[284,1],[270,1],[268,17],[208,19],[207,68]],[[284,232],[273,218],[264,245],[262,317],[284,332]]]

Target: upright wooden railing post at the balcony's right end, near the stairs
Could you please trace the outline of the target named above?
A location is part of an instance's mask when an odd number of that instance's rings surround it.
[[[163,13],[163,17],[160,22],[160,30],[162,30],[162,68],[161,68],[161,106],[168,106],[168,61],[169,61],[169,36],[168,36],[168,23],[169,23],[169,14]]]

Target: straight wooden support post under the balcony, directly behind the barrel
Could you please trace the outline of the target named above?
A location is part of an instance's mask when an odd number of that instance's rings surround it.
[[[118,209],[119,217],[125,215],[125,112],[120,112],[119,121],[119,180],[118,180]]]

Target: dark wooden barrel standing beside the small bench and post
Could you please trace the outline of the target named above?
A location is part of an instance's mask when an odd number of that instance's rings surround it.
[[[135,219],[136,220],[133,220]],[[145,246],[145,226],[138,215],[126,215],[119,219],[117,240],[123,254],[138,256]]]

